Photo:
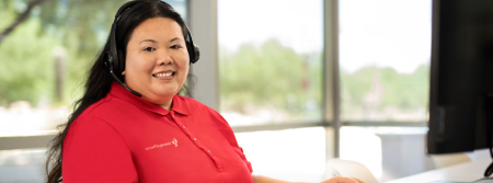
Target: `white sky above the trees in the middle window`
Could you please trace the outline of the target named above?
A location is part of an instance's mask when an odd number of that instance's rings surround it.
[[[244,43],[278,38],[300,53],[319,52],[322,8],[320,0],[218,0],[219,44],[237,50]]]

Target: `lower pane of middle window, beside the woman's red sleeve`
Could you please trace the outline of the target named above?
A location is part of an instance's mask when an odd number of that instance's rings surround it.
[[[291,182],[321,182],[326,176],[323,127],[237,133],[236,136],[252,163],[253,174]]]

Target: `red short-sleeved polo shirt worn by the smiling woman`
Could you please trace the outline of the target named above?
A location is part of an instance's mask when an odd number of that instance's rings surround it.
[[[64,183],[252,183],[251,173],[216,111],[180,95],[168,111],[116,82],[70,125],[62,148]]]

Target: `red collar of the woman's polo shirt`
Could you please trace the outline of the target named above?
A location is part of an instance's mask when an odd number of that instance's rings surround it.
[[[134,105],[137,105],[144,110],[157,113],[159,115],[168,115],[170,113],[170,111],[163,108],[162,106],[150,103],[139,96],[131,94],[129,91],[127,91],[125,88],[123,88],[123,85],[121,85],[117,82],[113,82],[110,94],[115,98],[127,101]],[[186,102],[183,101],[183,98],[177,94],[173,96],[171,111],[179,114],[188,115],[188,107],[186,105]]]

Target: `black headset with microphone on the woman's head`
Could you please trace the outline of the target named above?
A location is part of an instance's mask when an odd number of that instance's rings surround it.
[[[126,90],[128,90],[130,93],[141,98],[142,94],[140,94],[137,91],[134,91],[131,89],[129,89],[124,82],[122,82],[122,80],[118,79],[118,77],[116,77],[116,73],[122,73],[123,70],[125,70],[124,68],[124,62],[122,62],[123,60],[118,59],[118,53],[116,50],[116,23],[118,22],[119,18],[122,18],[122,15],[128,10],[130,9],[133,5],[139,3],[139,2],[146,2],[146,1],[129,1],[125,4],[123,4],[118,11],[116,11],[115,14],[115,20],[113,21],[112,24],[112,30],[110,33],[110,50],[106,53],[107,54],[107,59],[104,61],[104,65],[110,69],[110,73],[113,76],[113,78],[116,80],[116,82],[118,82],[119,84],[122,84],[122,87],[124,87]],[[160,1],[160,3],[164,3],[167,7],[171,8],[170,4],[168,4],[167,2]],[[172,10],[170,10],[172,11]],[[195,64],[197,62],[199,56],[200,56],[200,52],[197,45],[194,44],[194,41],[192,39],[192,34],[190,33],[190,28],[188,26],[186,26],[185,24],[185,28],[187,31],[187,35],[185,35],[185,45],[186,45],[186,50],[188,52],[188,58],[190,58],[190,64]]]

